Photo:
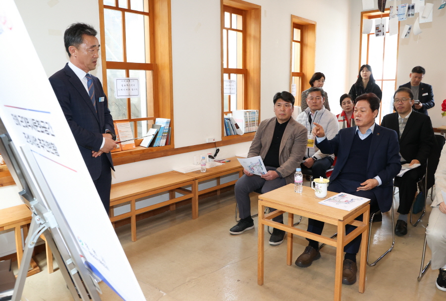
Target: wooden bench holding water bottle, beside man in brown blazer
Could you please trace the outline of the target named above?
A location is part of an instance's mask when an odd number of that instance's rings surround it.
[[[217,190],[217,195],[219,195],[220,189],[230,185],[234,185],[235,182],[237,182],[237,180],[233,180],[227,183],[220,184],[220,177],[235,172],[238,172],[239,178],[243,175],[243,166],[241,166],[240,162],[238,162],[237,157],[231,157],[227,159],[230,160],[230,162],[226,162],[223,165],[207,168],[206,172],[201,172],[201,170],[196,170],[185,173],[185,175],[194,178],[193,188],[195,193],[192,198],[192,218],[198,217],[198,197],[200,195],[216,190]],[[217,186],[198,191],[198,184],[200,182],[210,179],[217,179]]]

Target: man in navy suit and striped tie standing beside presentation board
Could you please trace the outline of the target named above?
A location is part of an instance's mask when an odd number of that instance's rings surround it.
[[[63,36],[69,62],[50,77],[54,93],[87,165],[96,190],[109,213],[110,151],[116,146],[113,118],[96,69],[99,41],[96,30],[84,23],[71,24]]]

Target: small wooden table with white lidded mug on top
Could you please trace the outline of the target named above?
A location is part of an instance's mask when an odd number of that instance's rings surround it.
[[[336,193],[328,192],[327,198],[333,197]],[[258,271],[257,283],[263,285],[264,276],[264,225],[278,228],[287,232],[287,255],[286,264],[292,264],[293,257],[293,234],[313,239],[318,242],[336,247],[336,266],[335,266],[335,301],[341,300],[342,289],[342,261],[344,246],[351,242],[355,237],[362,234],[361,260],[359,269],[359,292],[364,293],[365,275],[367,267],[367,238],[369,232],[369,201],[351,210],[336,209],[327,205],[319,204],[321,201],[314,197],[314,190],[310,187],[303,187],[302,194],[294,192],[294,184],[283,186],[266,194],[259,196],[259,240],[258,240]],[[265,207],[277,208],[276,211],[265,214]],[[279,224],[273,221],[273,217],[288,212],[288,225]],[[293,227],[293,214],[302,215],[317,219],[337,226],[337,237],[335,239],[310,233]],[[363,220],[357,221],[355,218],[361,214]],[[351,224],[357,228],[350,234],[345,235],[345,225]]]

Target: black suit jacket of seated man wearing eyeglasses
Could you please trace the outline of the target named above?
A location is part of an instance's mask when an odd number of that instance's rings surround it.
[[[435,140],[431,118],[428,115],[412,111],[401,137],[399,136],[398,113],[384,116],[381,126],[396,132],[399,153],[406,161],[416,159],[421,164],[426,164]]]

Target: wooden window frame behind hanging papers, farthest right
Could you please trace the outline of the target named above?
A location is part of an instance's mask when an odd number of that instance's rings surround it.
[[[359,64],[358,64],[358,70],[359,70],[359,68],[361,68],[361,61],[362,61],[362,38],[363,38],[363,33],[362,33],[362,27],[363,27],[363,20],[364,19],[378,19],[378,18],[385,18],[385,17],[389,17],[390,16],[390,8],[386,8],[385,10],[384,10],[384,13],[382,13],[380,10],[370,10],[370,11],[362,11],[361,12],[361,25],[360,25],[360,28],[359,28]],[[395,17],[396,18],[396,17]],[[400,22],[398,22],[398,37],[397,37],[397,40],[398,40],[398,42],[396,43],[396,68],[395,68],[395,79],[394,79],[394,81],[395,81],[395,87],[394,87],[394,90],[396,90],[396,83],[397,83],[397,81],[398,81],[398,54],[399,54],[399,24]],[[386,33],[388,33],[388,32],[386,32]],[[372,35],[372,34],[367,34],[367,52],[366,52],[366,61],[367,61],[367,63],[368,63],[368,61],[369,61],[369,48],[368,48],[368,45],[369,45],[369,40],[370,40],[370,35]],[[384,49],[386,49],[386,40],[384,40],[384,46],[383,46],[383,48]],[[385,56],[385,51],[383,51],[383,61],[384,61],[384,56]],[[385,81],[392,81],[393,79],[388,79],[388,80],[386,80],[386,79],[384,79],[384,68],[383,68],[383,74],[381,75],[381,77],[382,77],[382,79],[381,80],[379,80],[379,81],[381,81],[381,91],[383,90],[383,82],[385,82]],[[380,109],[380,115],[379,115],[379,120],[382,120],[382,116],[381,116],[381,114],[382,114],[382,110]]]

